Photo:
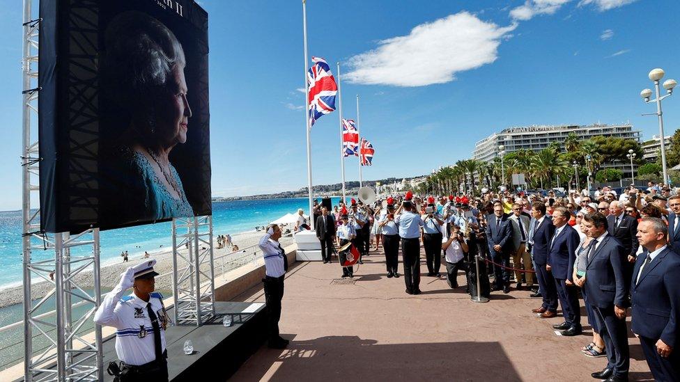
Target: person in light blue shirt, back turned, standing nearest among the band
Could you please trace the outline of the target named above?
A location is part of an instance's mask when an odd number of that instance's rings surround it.
[[[406,193],[405,200],[396,210],[394,223],[399,226],[401,237],[401,257],[404,263],[404,282],[406,293],[420,294],[420,228],[423,221],[419,214],[412,211],[411,198],[413,194]],[[403,213],[399,214],[403,209]]]

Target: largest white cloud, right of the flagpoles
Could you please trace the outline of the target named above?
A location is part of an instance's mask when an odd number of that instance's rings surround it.
[[[346,78],[367,85],[426,86],[456,79],[498,58],[500,40],[516,24],[500,27],[461,12],[413,28],[408,35],[381,40],[379,47],[349,59]]]

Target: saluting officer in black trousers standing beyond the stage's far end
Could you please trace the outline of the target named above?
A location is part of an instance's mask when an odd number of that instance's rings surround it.
[[[284,298],[284,276],[288,271],[288,258],[281,248],[279,239],[281,228],[276,224],[267,226],[267,233],[260,239],[260,249],[265,259],[266,276],[262,279],[265,287],[267,303],[268,347],[284,349],[288,340],[279,335],[279,319],[281,318],[281,299]]]

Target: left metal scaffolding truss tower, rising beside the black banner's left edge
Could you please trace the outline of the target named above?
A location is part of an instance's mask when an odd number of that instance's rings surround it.
[[[24,379],[26,381],[98,381],[102,374],[102,330],[86,339],[85,324],[100,305],[99,230],[47,234],[40,230],[38,199],[38,36],[41,20],[33,17],[38,0],[24,0],[22,59],[22,255],[24,282]],[[72,248],[85,255],[72,255]],[[54,256],[33,260],[33,251],[52,251]],[[84,273],[91,273],[85,275]],[[77,277],[82,276],[82,277]],[[32,300],[31,283],[44,281],[49,292]],[[79,285],[92,280],[91,292]],[[79,308],[75,313],[73,305]],[[56,320],[42,317],[40,308],[54,306]],[[35,335],[34,335],[35,333]],[[47,346],[45,346],[47,344]]]

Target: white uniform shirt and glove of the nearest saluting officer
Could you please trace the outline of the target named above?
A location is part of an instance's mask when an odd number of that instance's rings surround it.
[[[153,325],[146,308],[148,304],[151,304],[151,309],[158,318],[160,348],[161,351],[165,351],[164,327],[167,327],[168,317],[161,301],[163,296],[158,292],[152,292],[147,303],[134,294],[121,298],[125,293],[122,289],[118,285],[106,295],[95,313],[94,321],[95,324],[113,326],[117,329],[116,354],[119,360],[127,365],[144,365],[156,359]]]

